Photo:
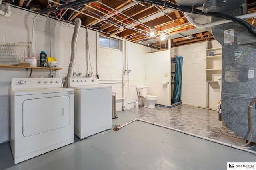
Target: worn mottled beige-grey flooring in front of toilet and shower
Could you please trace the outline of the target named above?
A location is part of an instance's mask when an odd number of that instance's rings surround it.
[[[239,145],[245,140],[236,135],[218,120],[218,111],[181,104],[170,109],[145,107],[128,109],[138,113],[138,118],[160,125],[179,129],[202,137],[222,140],[226,143]]]

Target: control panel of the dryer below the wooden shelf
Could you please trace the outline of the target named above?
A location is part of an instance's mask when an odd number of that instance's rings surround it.
[[[61,88],[60,78],[12,78],[11,89]]]

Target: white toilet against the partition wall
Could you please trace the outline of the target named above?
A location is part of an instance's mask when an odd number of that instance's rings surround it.
[[[139,86],[137,87],[138,96],[143,98],[144,107],[154,109],[156,108],[155,102],[157,100],[157,96],[148,95],[148,86]]]

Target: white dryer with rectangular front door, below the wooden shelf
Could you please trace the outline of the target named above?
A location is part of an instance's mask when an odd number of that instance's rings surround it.
[[[15,164],[74,143],[74,89],[59,78],[13,78],[10,94]]]

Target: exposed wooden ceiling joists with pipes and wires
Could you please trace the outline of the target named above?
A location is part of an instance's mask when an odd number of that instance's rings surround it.
[[[68,0],[67,0],[68,1]],[[62,6],[63,4],[77,4],[77,1],[69,0],[32,0],[30,3],[26,0],[14,1],[14,5],[23,8],[47,9],[50,7]],[[165,0],[163,0],[165,1]],[[177,4],[178,6],[194,6],[200,8],[208,0],[166,0],[166,3]],[[53,3],[54,2],[54,3]],[[79,2],[82,2],[79,0]],[[178,3],[177,3],[178,2]],[[239,5],[240,0],[233,0],[232,3]],[[256,11],[254,0],[247,0],[248,13]],[[49,5],[50,4],[50,5]],[[223,2],[224,4],[224,2]],[[228,5],[228,3],[227,3]],[[116,33],[116,35],[142,45],[148,45],[155,49],[165,48],[168,41],[160,39],[162,33],[172,39],[172,47],[214,39],[212,34],[206,29],[198,29],[188,23],[184,14],[178,10],[166,8],[166,6],[152,5],[136,0],[99,0],[90,1],[89,4],[81,3],[78,7],[64,8],[56,12],[48,12],[52,17],[62,18],[72,21],[79,17],[82,25],[92,29],[98,29],[105,35]],[[79,10],[76,10],[80,8]],[[221,7],[223,8],[223,6]],[[55,8],[53,8],[56,10]],[[199,16],[200,18],[201,16]],[[256,16],[255,16],[256,17]],[[198,20],[198,18],[197,18]],[[199,19],[200,20],[200,19]],[[256,24],[256,18],[249,18],[246,21]],[[209,30],[209,29],[208,29]],[[154,33],[154,37],[150,33]],[[190,39],[186,36],[191,35]],[[185,38],[184,38],[185,37]]]

